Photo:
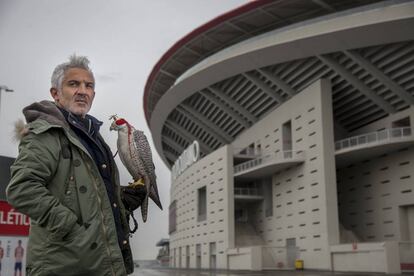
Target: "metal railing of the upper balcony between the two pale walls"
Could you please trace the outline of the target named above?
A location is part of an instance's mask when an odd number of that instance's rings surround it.
[[[268,164],[268,163],[272,163],[276,161],[280,161],[280,162],[288,161],[293,158],[304,158],[303,151],[282,151],[282,152],[277,152],[275,154],[268,154],[265,156],[261,156],[259,158],[256,158],[256,159],[234,166],[234,173],[236,174],[236,173],[257,167],[259,165],[264,165],[264,164]]]

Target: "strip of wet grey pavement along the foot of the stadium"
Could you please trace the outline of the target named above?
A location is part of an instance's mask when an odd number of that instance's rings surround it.
[[[330,271],[295,271],[295,270],[273,270],[273,271],[228,271],[228,270],[195,270],[195,269],[169,269],[169,268],[136,268],[133,276],[384,276],[391,274],[383,273],[351,273],[351,272],[330,272]],[[401,275],[401,274],[394,274]],[[413,275],[413,274],[404,274]]]

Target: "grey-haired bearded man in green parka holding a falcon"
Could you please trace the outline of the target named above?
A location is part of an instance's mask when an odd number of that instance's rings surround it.
[[[88,115],[95,79],[86,57],[58,65],[54,102],[23,109],[19,155],[7,197],[31,218],[28,275],[126,275],[133,272],[129,227],[112,153]]]

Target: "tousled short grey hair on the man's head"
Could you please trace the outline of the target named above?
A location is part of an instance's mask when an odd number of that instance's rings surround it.
[[[93,72],[89,68],[89,59],[86,56],[77,56],[73,54],[69,57],[69,62],[65,62],[56,66],[52,74],[52,87],[60,90],[62,88],[63,77],[67,70],[71,68],[85,69],[91,73],[92,78]]]

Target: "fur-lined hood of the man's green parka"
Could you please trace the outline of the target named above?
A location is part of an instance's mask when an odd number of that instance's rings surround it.
[[[30,131],[30,125],[36,120],[46,121],[50,125],[61,126],[68,128],[69,125],[66,122],[62,112],[51,101],[35,102],[23,109],[23,115],[26,118],[27,124],[23,120],[18,120],[15,123],[14,138],[16,141],[20,141]]]

